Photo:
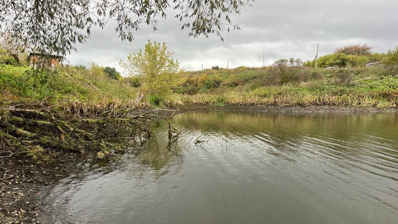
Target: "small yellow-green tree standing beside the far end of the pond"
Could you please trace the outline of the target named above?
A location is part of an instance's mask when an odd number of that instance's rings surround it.
[[[148,40],[144,50],[128,55],[127,62],[120,60],[120,65],[128,76],[139,77],[142,87],[150,95],[163,97],[185,81],[173,55],[174,52],[167,50],[166,43]]]

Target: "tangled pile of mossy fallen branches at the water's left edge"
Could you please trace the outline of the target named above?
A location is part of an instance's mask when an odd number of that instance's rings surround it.
[[[159,112],[154,109],[123,117],[61,119],[50,107],[0,108],[0,158],[12,156],[43,157],[46,151],[68,150],[99,158],[124,151],[142,137],[150,136],[148,124]],[[163,118],[168,121],[168,118]],[[169,134],[178,130],[169,123]]]

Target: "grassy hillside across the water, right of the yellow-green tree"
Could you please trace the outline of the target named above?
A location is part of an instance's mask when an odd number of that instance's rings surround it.
[[[188,72],[168,104],[398,105],[398,72],[388,67],[274,66]]]

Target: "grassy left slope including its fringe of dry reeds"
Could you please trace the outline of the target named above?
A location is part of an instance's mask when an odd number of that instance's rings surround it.
[[[0,107],[60,103],[60,109],[68,114],[96,115],[148,106],[145,102],[135,104],[138,90],[128,82],[109,79],[96,64],[88,69],[65,66],[40,72],[0,64]]]

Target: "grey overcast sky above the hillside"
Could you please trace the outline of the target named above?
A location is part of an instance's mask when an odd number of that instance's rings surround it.
[[[70,63],[88,65],[92,61],[117,68],[120,59],[143,48],[146,41],[166,42],[174,51],[180,67],[188,71],[221,67],[260,67],[281,58],[312,60],[316,45],[320,55],[332,53],[342,45],[368,43],[374,51],[386,52],[398,45],[397,0],[255,0],[244,6],[233,23],[241,30],[223,32],[224,42],[216,35],[189,37],[189,30],[170,11],[160,20],[158,31],[142,24],[135,41],[121,41],[115,24],[92,30],[91,39],[78,45],[68,56]]]

